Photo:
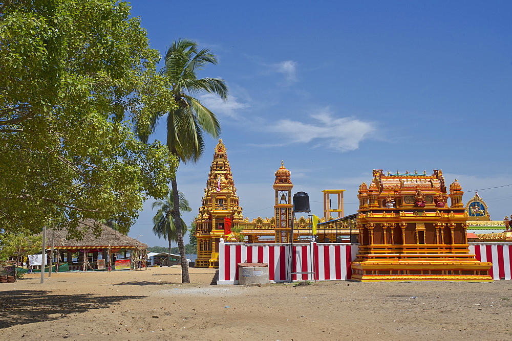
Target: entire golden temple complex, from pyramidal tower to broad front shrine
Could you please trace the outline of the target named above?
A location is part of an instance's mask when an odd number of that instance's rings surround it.
[[[226,147],[219,140],[196,218],[197,267],[219,266],[222,240],[289,243],[291,238],[293,242],[314,238],[323,243],[358,242],[359,252],[351,263],[352,279],[357,281],[492,281],[488,273],[492,264],[478,261],[468,249],[470,213],[462,202],[464,192],[457,180],[447,192],[441,170],[432,175],[385,175],[374,170],[370,185],[359,186],[359,210],[352,216],[343,217],[343,204],[339,205],[343,190],[323,191],[325,216],[316,236],[311,234],[309,218],[294,216],[291,172],[283,162],[272,189],[274,216],[244,218]],[[327,205],[330,194],[338,195],[336,209]],[[487,223],[487,207],[479,202],[472,201],[473,216],[480,217],[475,223]]]

